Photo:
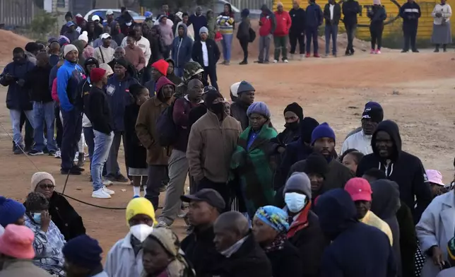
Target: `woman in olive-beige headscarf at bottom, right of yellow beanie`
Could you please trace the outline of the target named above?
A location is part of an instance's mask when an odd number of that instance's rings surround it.
[[[180,242],[172,230],[156,228],[143,242],[142,277],[191,277],[193,269],[183,257]]]

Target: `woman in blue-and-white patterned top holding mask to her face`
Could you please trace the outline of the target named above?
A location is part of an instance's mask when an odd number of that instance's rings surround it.
[[[65,276],[64,257],[61,249],[66,243],[59,228],[49,215],[49,201],[40,192],[30,192],[27,196],[25,226],[35,233],[33,263],[52,276]]]

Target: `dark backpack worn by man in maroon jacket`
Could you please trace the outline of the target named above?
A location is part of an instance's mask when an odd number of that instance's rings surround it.
[[[174,118],[172,117],[172,113],[174,112],[174,105],[177,99],[172,102],[172,105],[163,110],[160,114],[160,117],[158,117],[156,120],[158,142],[162,147],[172,146],[177,142],[177,138],[179,136],[180,127],[175,124]],[[187,107],[187,104],[187,100],[184,100],[185,107]]]

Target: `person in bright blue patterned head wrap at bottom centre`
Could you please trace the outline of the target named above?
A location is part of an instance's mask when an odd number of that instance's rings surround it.
[[[264,206],[254,214],[253,235],[271,262],[273,277],[303,276],[299,249],[288,241],[288,213]]]

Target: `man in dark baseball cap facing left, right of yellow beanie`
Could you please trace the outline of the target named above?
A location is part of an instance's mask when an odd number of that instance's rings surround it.
[[[189,202],[188,220],[194,231],[182,240],[181,248],[191,261],[197,276],[206,276],[218,257],[213,239],[213,224],[225,209],[223,197],[215,189],[201,189],[196,194],[183,195],[182,201]]]

